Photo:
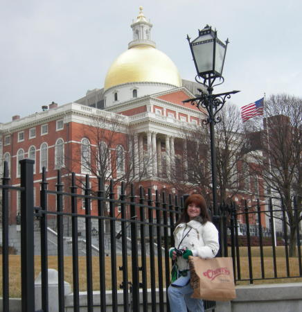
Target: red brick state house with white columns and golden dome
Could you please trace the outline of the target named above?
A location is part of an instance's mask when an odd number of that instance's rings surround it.
[[[19,160],[35,160],[35,205],[39,205],[43,167],[48,189],[53,190],[57,169],[62,171],[64,191],[70,191],[71,172],[79,181],[89,174],[93,189],[100,165],[107,166],[105,171],[114,180],[130,171],[137,186],[159,191],[168,187],[163,177],[169,175],[184,148],[179,130],[204,118],[197,107],[182,101],[195,97],[201,86],[181,80],[172,60],[156,49],[152,24],[142,8],[131,28],[133,40],[109,67],[102,89],[88,91],[73,103],[51,103],[41,112],[13,116],[0,125],[3,160],[8,162],[13,185],[20,183]],[[105,151],[106,159],[102,159]],[[120,191],[118,184],[115,191]],[[19,211],[18,195],[12,195],[11,224]],[[80,211],[81,201],[78,205]],[[69,206],[65,200],[64,206]],[[55,209],[54,196],[49,198],[48,209]],[[91,209],[91,214],[97,213],[94,205]]]

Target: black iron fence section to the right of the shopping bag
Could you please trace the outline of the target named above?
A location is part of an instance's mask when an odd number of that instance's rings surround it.
[[[290,204],[268,198],[261,205],[222,205],[222,254],[233,258],[236,282],[302,277],[302,209],[298,198]]]

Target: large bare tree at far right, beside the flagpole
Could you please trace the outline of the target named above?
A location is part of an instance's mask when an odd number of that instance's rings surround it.
[[[260,130],[262,150],[254,158],[262,168],[268,195],[283,198],[290,227],[290,255],[296,250],[296,221],[292,197],[301,207],[302,99],[287,94],[272,95],[265,101],[263,130]],[[255,132],[256,133],[256,132]],[[299,211],[299,221],[302,211]],[[284,220],[285,221],[285,220]]]

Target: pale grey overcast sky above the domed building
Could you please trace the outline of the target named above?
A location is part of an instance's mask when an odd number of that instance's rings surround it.
[[[238,89],[238,106],[264,94],[302,97],[301,0],[2,0],[0,122],[39,112],[102,88],[114,59],[132,40],[132,19],[143,6],[151,39],[194,80],[186,35],[206,24],[229,38],[223,76],[214,92]]]

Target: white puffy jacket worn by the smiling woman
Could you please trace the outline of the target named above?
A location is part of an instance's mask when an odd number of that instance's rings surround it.
[[[215,225],[209,221],[204,225],[196,220],[180,223],[173,234],[175,239],[174,248],[187,248],[192,251],[194,257],[214,258],[219,250],[218,231]],[[177,257],[177,266],[179,270],[188,270],[188,260]]]

